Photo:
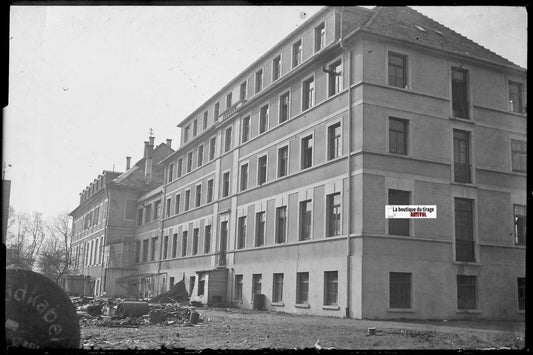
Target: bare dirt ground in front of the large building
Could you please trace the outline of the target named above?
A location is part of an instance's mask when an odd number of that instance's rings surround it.
[[[84,326],[84,349],[500,349],[524,347],[524,323],[375,321],[198,308],[195,326]],[[368,328],[376,335],[369,336]]]

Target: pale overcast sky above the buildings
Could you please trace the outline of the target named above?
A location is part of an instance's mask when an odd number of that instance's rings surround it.
[[[518,7],[414,7],[527,65]],[[11,205],[73,210],[102,170],[179,144],[176,125],[319,7],[11,7],[3,160]]]

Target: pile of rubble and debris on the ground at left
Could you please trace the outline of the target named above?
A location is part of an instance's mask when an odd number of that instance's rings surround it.
[[[149,324],[192,326],[203,322],[187,302],[147,303],[97,297],[71,297],[71,300],[80,326],[137,328]]]

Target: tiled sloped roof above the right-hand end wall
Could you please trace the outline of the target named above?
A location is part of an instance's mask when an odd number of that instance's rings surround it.
[[[504,57],[407,6],[376,7],[373,12],[374,16],[362,28],[366,32],[474,56],[520,69]]]

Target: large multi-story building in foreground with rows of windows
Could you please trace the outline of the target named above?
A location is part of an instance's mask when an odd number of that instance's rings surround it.
[[[410,8],[323,8],[179,123],[137,203],[141,294],[185,279],[242,308],[520,319],[526,87]],[[408,204],[437,218],[385,218]]]

